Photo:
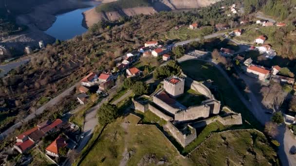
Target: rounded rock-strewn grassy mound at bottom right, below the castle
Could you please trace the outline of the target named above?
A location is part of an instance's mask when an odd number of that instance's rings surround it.
[[[276,165],[277,153],[256,130],[214,133],[190,154],[196,166]]]

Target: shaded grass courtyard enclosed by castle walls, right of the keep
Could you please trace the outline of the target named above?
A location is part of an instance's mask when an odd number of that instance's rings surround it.
[[[185,93],[178,97],[177,100],[185,107],[199,105],[206,99],[201,93],[193,89],[185,89],[184,91]]]

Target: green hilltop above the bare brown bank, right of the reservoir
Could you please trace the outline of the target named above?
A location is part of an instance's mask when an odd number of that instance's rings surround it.
[[[96,12],[113,12],[126,8],[150,6],[149,0],[118,0],[104,3],[95,8]]]

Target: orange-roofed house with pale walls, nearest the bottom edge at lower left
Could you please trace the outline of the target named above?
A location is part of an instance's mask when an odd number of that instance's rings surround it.
[[[59,157],[60,148],[65,148],[67,145],[66,140],[62,136],[58,136],[56,140],[45,149],[46,154],[53,157]]]

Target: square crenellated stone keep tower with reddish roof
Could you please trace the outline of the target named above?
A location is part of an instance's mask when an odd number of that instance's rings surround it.
[[[184,93],[185,80],[183,78],[172,76],[164,80],[166,93],[171,97],[178,97]]]

